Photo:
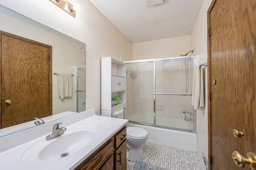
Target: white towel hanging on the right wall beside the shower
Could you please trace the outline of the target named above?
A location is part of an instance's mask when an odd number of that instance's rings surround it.
[[[204,107],[204,77],[202,66],[196,66],[193,70],[192,105],[194,109]]]

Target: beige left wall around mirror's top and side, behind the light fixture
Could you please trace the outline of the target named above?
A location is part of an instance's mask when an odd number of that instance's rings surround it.
[[[132,43],[89,0],[69,2],[76,18],[49,0],[1,0],[0,5],[86,43],[86,109],[100,115],[100,57],[132,60]]]

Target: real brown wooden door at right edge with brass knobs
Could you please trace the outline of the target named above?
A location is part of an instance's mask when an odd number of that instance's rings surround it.
[[[256,1],[214,0],[208,10],[209,167],[240,170],[256,153]],[[213,81],[216,80],[216,84]],[[233,129],[243,131],[236,138]],[[246,165],[246,170],[249,166]]]

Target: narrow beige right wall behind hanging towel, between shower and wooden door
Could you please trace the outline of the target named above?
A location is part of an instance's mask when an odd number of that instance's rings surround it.
[[[207,10],[212,0],[204,0],[191,32],[191,48],[195,49],[198,64],[207,62]],[[208,158],[208,89],[207,67],[204,67],[204,101],[205,107],[197,110],[198,155],[202,162],[202,152]],[[208,160],[209,161],[209,160]],[[203,164],[203,163],[202,163]],[[206,170],[206,167],[204,167]]]

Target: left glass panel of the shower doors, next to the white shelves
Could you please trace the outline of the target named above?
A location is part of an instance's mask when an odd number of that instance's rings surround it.
[[[154,65],[126,65],[126,119],[154,124]]]

